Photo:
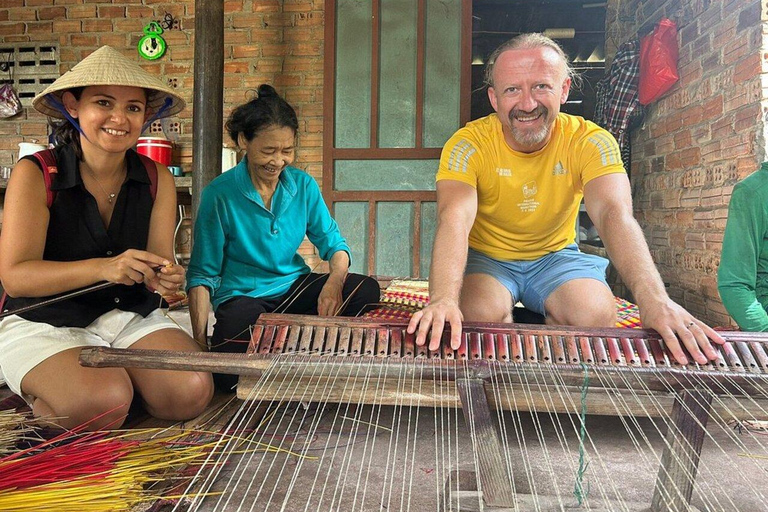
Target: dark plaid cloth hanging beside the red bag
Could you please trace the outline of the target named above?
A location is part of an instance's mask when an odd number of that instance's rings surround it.
[[[595,90],[594,121],[616,138],[621,159],[629,174],[631,148],[629,132],[640,125],[645,109],[638,101],[640,78],[640,41],[632,39],[622,44]]]

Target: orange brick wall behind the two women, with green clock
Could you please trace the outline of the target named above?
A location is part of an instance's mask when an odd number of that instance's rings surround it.
[[[299,116],[295,165],[318,181],[322,176],[323,0],[224,0],[224,119],[270,83]],[[166,30],[166,54],[143,61],[136,46],[149,21],[170,13],[180,29]],[[188,107],[178,119],[180,140],[174,160],[190,169],[194,0],[0,0],[0,44],[58,43],[64,72],[101,45],[108,44],[141,61],[144,68],[176,84]],[[13,165],[18,143],[44,141],[44,116],[25,109],[0,120],[0,165]],[[225,143],[232,145],[228,136]],[[311,261],[314,250],[301,249]]]

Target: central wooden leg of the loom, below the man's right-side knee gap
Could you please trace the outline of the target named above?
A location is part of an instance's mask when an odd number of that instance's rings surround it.
[[[480,491],[486,507],[513,507],[512,479],[504,460],[504,447],[493,425],[482,379],[457,379],[464,420],[475,450]]]

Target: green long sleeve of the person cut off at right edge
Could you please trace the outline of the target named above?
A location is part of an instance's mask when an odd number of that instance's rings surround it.
[[[768,331],[768,162],[733,188],[717,287],[739,328]]]

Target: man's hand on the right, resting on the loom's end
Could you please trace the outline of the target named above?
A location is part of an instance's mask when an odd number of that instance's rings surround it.
[[[680,364],[689,362],[680,342],[699,364],[706,364],[709,360],[717,358],[717,351],[710,340],[720,345],[725,343],[717,331],[694,318],[669,298],[650,305],[639,304],[639,309],[643,327],[655,329]]]

